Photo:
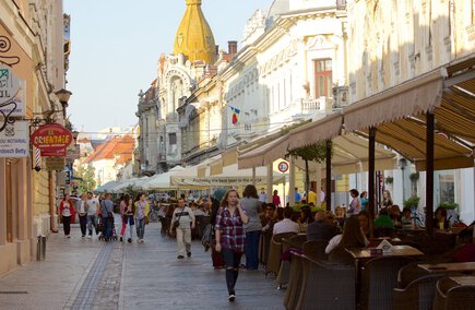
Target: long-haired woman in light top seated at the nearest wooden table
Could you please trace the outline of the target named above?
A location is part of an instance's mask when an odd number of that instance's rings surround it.
[[[361,231],[358,217],[352,216],[346,218],[343,234],[330,239],[325,253],[329,254],[330,261],[351,264],[353,259],[345,249],[364,248],[368,245],[369,241]]]

